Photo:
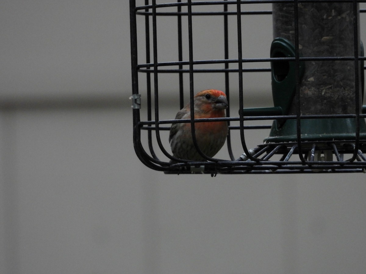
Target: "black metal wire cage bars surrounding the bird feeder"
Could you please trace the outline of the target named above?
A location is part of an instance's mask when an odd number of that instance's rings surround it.
[[[354,14],[357,11],[357,3],[366,2],[365,0],[316,0],[317,2],[351,2],[353,3]],[[271,15],[272,11],[242,11],[242,4],[256,4],[256,3],[294,3],[295,7],[295,58],[245,58],[242,57],[242,31],[241,19],[242,15]],[[130,29],[131,29],[131,71],[132,71],[132,98],[134,99],[133,107],[133,132],[134,132],[134,148],[138,158],[146,166],[165,173],[179,174],[179,173],[208,173],[216,175],[217,173],[225,174],[266,174],[266,173],[312,173],[312,172],[364,172],[366,170],[366,157],[363,154],[366,152],[366,143],[360,141],[359,138],[359,118],[365,118],[365,114],[360,114],[359,109],[359,91],[356,91],[356,107],[355,114],[347,115],[300,115],[300,99],[299,99],[299,62],[311,60],[351,60],[355,63],[355,83],[356,87],[359,84],[361,75],[359,75],[358,64],[359,61],[365,60],[365,57],[358,56],[358,21],[357,16],[354,16],[354,57],[312,57],[305,58],[299,56],[299,41],[298,41],[298,3],[314,2],[314,0],[224,0],[224,1],[199,1],[192,2],[187,0],[182,2],[177,0],[176,3],[156,4],[156,0],[145,0],[145,5],[136,6],[136,0],[130,0]],[[221,5],[222,12],[193,12],[194,5]],[[236,5],[236,11],[228,11],[228,5]],[[187,12],[182,12],[182,6],[187,6]],[[176,12],[158,12],[159,8],[176,7]],[[366,9],[361,9],[360,12],[365,13]],[[224,59],[222,60],[193,60],[193,42],[192,42],[192,17],[193,16],[207,16],[216,15],[224,18]],[[229,59],[228,56],[228,16],[236,15],[238,23],[238,59]],[[145,35],[146,35],[146,63],[138,64],[137,61],[137,16],[145,18]],[[157,61],[157,16],[176,16],[178,23],[178,61],[176,62],[158,62]],[[182,16],[188,17],[188,43],[189,43],[189,60],[183,61],[182,58]],[[150,60],[150,18],[152,18],[153,29],[153,61]],[[270,72],[270,68],[243,68],[243,63],[247,62],[271,62],[271,61],[294,61],[295,75],[296,75],[296,95],[295,102],[297,104],[296,115],[268,115],[268,116],[244,116],[243,113],[243,73],[242,72]],[[238,69],[229,68],[230,63],[238,64]],[[224,68],[220,69],[195,69],[197,64],[224,64]],[[183,69],[183,65],[188,65],[189,69]],[[178,69],[172,68],[178,66]],[[161,69],[163,68],[163,69]],[[366,67],[364,67],[366,69]],[[238,73],[239,76],[239,116],[230,117],[230,109],[227,109],[227,118],[210,118],[210,119],[185,119],[185,120],[159,120],[159,96],[158,96],[158,74],[159,73],[178,73],[179,75],[179,98],[180,108],[183,108],[183,73],[189,73],[190,77],[190,103],[193,105],[194,90],[194,73],[224,73],[225,75],[225,93],[230,102],[229,89],[229,73]],[[140,120],[139,104],[139,87],[138,74],[146,73],[147,90],[146,97],[143,100],[147,101],[147,121]],[[151,74],[153,79],[151,79]],[[154,90],[151,90],[153,81]],[[152,99],[154,99],[154,116],[152,113]],[[230,103],[229,103],[230,105]],[[178,111],[178,110],[177,110]],[[193,108],[191,110],[191,117],[193,115]],[[300,119],[303,118],[355,118],[356,119],[356,134],[355,139],[351,141],[330,141],[330,142],[303,142],[300,136]],[[270,126],[244,126],[244,121],[250,120],[274,120],[274,119],[296,119],[297,121],[297,141],[281,144],[259,144],[257,148],[248,149],[244,136],[244,129],[269,129]],[[169,124],[173,122],[194,123],[199,121],[228,121],[229,134],[227,138],[227,148],[230,160],[210,159],[206,162],[192,162],[187,160],[180,160],[177,164],[169,164],[169,160],[178,160],[164,149],[160,138],[162,130],[169,130]],[[239,121],[239,126],[231,126],[231,121]],[[141,143],[141,131],[147,130],[148,135],[148,151],[143,148]],[[194,132],[194,126],[192,126]],[[231,148],[231,130],[240,130],[240,138],[242,142],[244,154],[239,159],[235,159]],[[160,160],[154,152],[152,136],[153,132],[156,135],[156,141],[159,149],[167,157],[168,160]],[[195,136],[195,134],[193,134]],[[195,139],[195,138],[194,138]],[[194,140],[195,141],[195,140]],[[336,161],[316,161],[314,160],[314,152],[317,150],[332,151],[336,156]],[[351,155],[350,159],[343,159],[344,154]],[[273,155],[281,155],[279,161],[271,160]],[[299,160],[292,161],[291,157],[298,155]]]

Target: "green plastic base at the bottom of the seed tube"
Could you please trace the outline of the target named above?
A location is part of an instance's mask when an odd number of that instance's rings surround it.
[[[355,140],[354,118],[301,119],[301,141]],[[360,140],[366,140],[365,119],[360,119]],[[297,141],[296,120],[287,120],[280,128],[273,121],[269,137],[265,143]]]

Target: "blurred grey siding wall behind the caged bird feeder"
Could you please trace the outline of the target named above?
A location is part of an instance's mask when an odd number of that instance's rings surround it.
[[[161,20],[169,61],[176,25]],[[222,58],[221,18],[195,20],[194,58]],[[137,159],[129,23],[128,1],[1,1],[0,273],[362,273],[365,174],[164,175]],[[363,14],[363,41],[365,28]],[[243,57],[269,57],[271,16],[243,31]],[[164,119],[179,109],[169,81]],[[273,105],[269,74],[244,85],[246,107]],[[195,87],[224,85],[201,74]]]

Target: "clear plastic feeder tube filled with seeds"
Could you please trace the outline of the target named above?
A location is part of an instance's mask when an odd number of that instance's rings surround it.
[[[294,3],[274,3],[272,8],[273,38],[285,38],[295,45]],[[354,15],[353,3],[299,3],[300,56],[353,58],[354,16],[359,19],[359,7]],[[359,23],[356,33],[360,55]],[[359,67],[359,81],[356,83],[355,61],[305,61],[305,73],[300,84],[301,114],[354,114],[357,90],[362,109]],[[293,101],[289,114],[295,113]]]

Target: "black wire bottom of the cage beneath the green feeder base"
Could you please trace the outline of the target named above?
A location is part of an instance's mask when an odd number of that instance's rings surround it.
[[[252,157],[244,153],[235,161],[172,164],[164,173],[216,176],[216,174],[366,172],[364,155],[366,142],[363,141],[269,143],[258,145],[249,152]]]

